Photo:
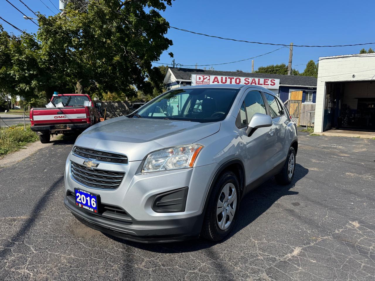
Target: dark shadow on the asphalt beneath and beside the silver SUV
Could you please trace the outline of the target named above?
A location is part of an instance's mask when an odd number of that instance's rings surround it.
[[[294,178],[289,185],[279,185],[276,183],[275,178],[272,177],[268,181],[261,184],[255,190],[247,194],[240,203],[239,213],[232,233],[224,240],[230,239],[237,232],[251,224],[260,215],[269,209],[273,203],[283,196],[290,196],[298,194],[297,191],[291,191],[290,189],[296,185],[300,179],[308,174],[309,170],[300,164],[296,164],[296,170]],[[103,233],[104,234],[104,233]],[[139,242],[128,241],[125,239],[117,238],[111,235],[107,235],[109,238],[127,244],[132,247],[140,248],[156,253],[183,253],[193,252],[206,248],[210,248],[216,245],[215,242],[210,242],[205,239],[196,239],[187,242],[172,242],[165,244],[143,244]],[[223,242],[223,241],[222,241]],[[208,253],[209,254],[209,253]],[[214,253],[213,253],[214,254]]]

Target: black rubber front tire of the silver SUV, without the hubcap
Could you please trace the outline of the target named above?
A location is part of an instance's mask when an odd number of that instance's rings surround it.
[[[233,220],[229,224],[228,228],[225,230],[222,230],[219,228],[219,225],[216,220],[217,202],[219,200],[219,196],[221,194],[223,187],[225,187],[225,185],[228,183],[232,183],[234,187],[236,188],[236,193],[237,193],[237,202],[236,202],[236,209],[235,209],[236,211],[234,213]],[[223,240],[226,236],[229,235],[229,233],[233,229],[234,224],[236,223],[236,216],[238,213],[239,202],[240,202],[239,181],[236,175],[231,171],[223,172],[219,176],[217,181],[215,182],[213,190],[210,195],[210,199],[208,200],[209,201],[208,201],[207,210],[204,216],[201,236],[208,240],[218,242],[218,241]]]

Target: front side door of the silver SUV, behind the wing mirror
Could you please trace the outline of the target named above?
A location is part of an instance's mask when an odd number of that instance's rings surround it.
[[[267,114],[266,101],[260,90],[249,89],[239,112],[241,135],[246,143],[248,158],[245,163],[246,184],[250,184],[273,168],[275,133],[270,127],[258,128],[251,135],[246,128],[255,113]]]

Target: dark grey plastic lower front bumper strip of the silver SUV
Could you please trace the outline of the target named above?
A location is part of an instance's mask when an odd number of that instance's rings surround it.
[[[85,211],[65,196],[65,206],[81,223],[109,235],[142,243],[166,243],[198,238],[204,214],[174,220],[137,221],[108,219]]]

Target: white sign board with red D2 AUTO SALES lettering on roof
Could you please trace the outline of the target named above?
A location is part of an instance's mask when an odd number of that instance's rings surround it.
[[[216,75],[191,75],[191,85],[257,85],[267,89],[278,89],[280,79],[269,78],[251,78],[251,77],[235,77],[235,76],[216,76]]]

